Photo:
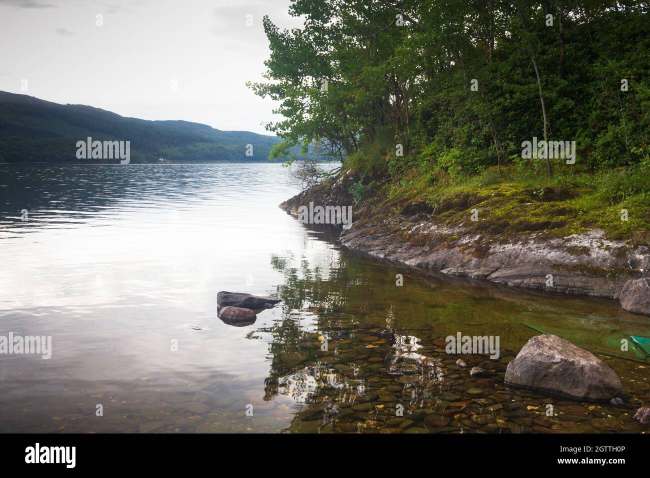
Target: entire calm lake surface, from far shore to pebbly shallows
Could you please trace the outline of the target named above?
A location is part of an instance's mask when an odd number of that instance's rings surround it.
[[[0,355],[0,431],[640,431],[650,361],[620,341],[648,317],[367,258],[278,208],[298,191],[274,164],[0,165],[0,335],[52,338],[49,360]],[[221,290],[283,302],[231,326]],[[463,356],[491,377],[445,353],[456,332],[500,337]],[[504,386],[540,332],[597,354],[630,408]]]

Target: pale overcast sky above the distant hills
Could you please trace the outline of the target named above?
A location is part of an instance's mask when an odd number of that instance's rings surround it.
[[[274,119],[275,104],[245,83],[265,71],[263,16],[280,27],[301,25],[289,16],[290,3],[0,0],[0,90],[268,134],[261,124]]]

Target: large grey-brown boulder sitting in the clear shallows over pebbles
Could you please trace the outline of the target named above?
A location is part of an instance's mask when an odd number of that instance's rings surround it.
[[[528,340],[508,364],[504,382],[586,401],[608,401],[623,395],[614,370],[591,352],[554,335]]]

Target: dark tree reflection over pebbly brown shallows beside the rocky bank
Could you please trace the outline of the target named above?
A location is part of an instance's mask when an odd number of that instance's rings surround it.
[[[272,336],[265,400],[283,395],[298,405],[285,431],[531,431],[534,404],[547,397],[503,384],[508,362],[535,334],[521,322],[545,317],[544,327],[558,326],[554,317],[566,317],[580,299],[387,267],[337,246],[335,230],[310,230],[328,239],[327,254],[271,259],[283,274],[278,295],[284,302],[281,318],[265,329]],[[395,284],[398,272],[405,287]],[[569,334],[583,322],[563,318],[561,326]],[[445,337],[458,330],[500,335],[499,359],[447,354]],[[575,340],[594,337],[576,334]],[[469,367],[458,367],[458,358]],[[471,377],[474,366],[491,375]],[[593,431],[587,420],[571,427]]]

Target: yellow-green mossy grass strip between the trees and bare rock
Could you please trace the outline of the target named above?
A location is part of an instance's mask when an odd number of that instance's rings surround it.
[[[487,168],[469,178],[435,178],[417,170],[380,183],[369,194],[372,219],[427,213],[468,233],[510,240],[537,233],[565,237],[594,228],[608,239],[650,244],[650,171],[617,169],[594,175],[558,170],[552,178],[516,166]],[[472,221],[473,209],[478,221]],[[627,220],[621,220],[627,209]]]

